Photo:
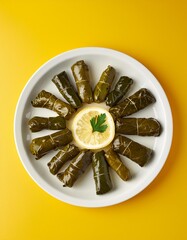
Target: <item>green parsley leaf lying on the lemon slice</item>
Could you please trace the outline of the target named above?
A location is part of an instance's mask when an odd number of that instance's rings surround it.
[[[106,114],[101,113],[100,115],[97,115],[93,117],[90,120],[90,123],[92,125],[93,132],[104,132],[106,131],[108,125],[103,123],[106,121]]]

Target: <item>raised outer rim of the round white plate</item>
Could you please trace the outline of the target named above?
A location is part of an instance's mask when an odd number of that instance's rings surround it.
[[[76,198],[74,200],[74,198],[72,196],[67,196],[66,194],[63,194],[63,192],[61,192],[61,194],[58,194],[53,187],[51,187],[49,184],[47,184],[43,178],[41,176],[39,176],[38,174],[36,174],[33,169],[30,169],[28,167],[29,164],[27,164],[25,162],[25,160],[23,159],[23,151],[25,151],[24,146],[21,146],[21,141],[19,141],[19,139],[22,137],[22,131],[21,131],[21,123],[19,124],[19,122],[22,122],[22,114],[24,110],[24,107],[21,106],[21,101],[24,98],[24,95],[26,94],[26,90],[28,89],[28,87],[33,87],[35,85],[35,82],[33,81],[34,78],[40,78],[40,75],[42,76],[45,72],[46,72],[46,67],[49,65],[50,68],[53,68],[56,64],[59,63],[59,60],[62,59],[66,59],[66,57],[71,58],[71,57],[76,57],[76,55],[78,56],[79,54],[101,54],[101,55],[110,55],[110,56],[116,56],[119,58],[123,58],[125,57],[126,59],[128,59],[131,63],[136,64],[143,72],[146,72],[146,74],[148,74],[150,76],[150,78],[152,79],[152,83],[156,86],[159,95],[162,99],[162,103],[164,104],[164,110],[165,110],[165,115],[167,117],[168,120],[168,126],[167,129],[165,129],[167,132],[167,136],[168,136],[168,140],[166,141],[166,146],[165,146],[165,151],[163,152],[163,160],[160,162],[160,164],[157,166],[156,169],[154,169],[154,171],[152,172],[152,174],[150,174],[145,181],[138,187],[134,188],[134,191],[131,192],[131,194],[128,194],[127,197],[124,197],[123,195],[121,197],[119,197],[119,195],[117,195],[117,197],[112,197],[111,199],[104,199],[102,201],[97,201],[94,203],[94,201],[87,201],[87,200],[83,200],[83,199],[78,199]],[[61,61],[62,61],[61,59]],[[66,59],[67,60],[67,59]],[[48,66],[48,67],[49,67]],[[21,118],[20,118],[21,116]],[[168,154],[170,152],[170,148],[171,148],[171,144],[172,144],[172,138],[173,138],[173,117],[172,117],[172,111],[171,111],[171,107],[167,98],[167,95],[164,91],[164,89],[162,88],[161,84],[159,83],[159,81],[157,80],[157,78],[150,72],[150,70],[148,68],[146,68],[141,62],[139,62],[138,60],[136,60],[134,57],[131,57],[128,54],[125,54],[123,52],[114,50],[114,49],[110,49],[110,48],[103,48],[103,47],[82,47],[82,48],[76,48],[76,49],[72,49],[69,51],[65,51],[62,52],[56,56],[54,56],[53,58],[49,59],[48,61],[46,61],[45,63],[43,63],[29,78],[29,80],[27,81],[27,83],[25,84],[24,88],[21,91],[21,94],[18,98],[18,102],[16,104],[16,109],[15,109],[15,114],[14,114],[14,141],[15,141],[15,145],[16,145],[16,149],[18,152],[18,156],[22,162],[22,165],[24,166],[25,170],[27,171],[27,173],[29,174],[29,176],[32,178],[32,180],[40,187],[42,188],[45,192],[47,192],[49,195],[53,196],[54,198],[74,205],[74,206],[79,206],[79,207],[92,207],[92,208],[96,208],[96,207],[107,207],[107,206],[112,206],[115,204],[119,204],[121,202],[124,202],[134,196],[136,196],[137,194],[139,194],[140,192],[142,192],[149,184],[151,184],[151,182],[157,177],[157,175],[159,174],[159,172],[161,171],[161,169],[163,168]],[[23,147],[23,148],[22,148]],[[22,151],[22,152],[21,152]],[[28,161],[29,162],[29,161]],[[32,165],[31,165],[32,166]],[[62,197],[63,196],[63,197]]]

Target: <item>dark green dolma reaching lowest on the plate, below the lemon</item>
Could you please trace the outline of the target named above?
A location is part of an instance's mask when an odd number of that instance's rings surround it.
[[[105,160],[105,152],[94,153],[92,157],[92,169],[96,187],[96,194],[104,194],[112,189],[108,164]]]

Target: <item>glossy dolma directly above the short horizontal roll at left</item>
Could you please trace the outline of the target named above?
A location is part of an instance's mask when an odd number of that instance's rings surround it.
[[[58,99],[52,93],[42,90],[38,96],[31,101],[33,107],[41,107],[53,110],[58,113],[61,117],[65,119],[70,119],[70,117],[75,112],[75,109],[72,108],[69,104]]]

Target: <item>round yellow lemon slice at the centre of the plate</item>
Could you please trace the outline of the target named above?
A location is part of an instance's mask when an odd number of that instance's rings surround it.
[[[104,132],[93,132],[90,120],[100,114],[106,114]],[[100,149],[109,145],[115,135],[115,126],[111,114],[100,107],[87,107],[75,116],[72,123],[72,133],[76,143],[87,149]]]

